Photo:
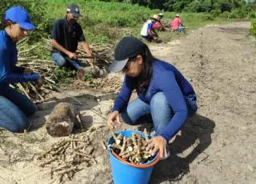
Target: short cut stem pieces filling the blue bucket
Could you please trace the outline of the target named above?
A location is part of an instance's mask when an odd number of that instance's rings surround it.
[[[122,134],[113,134],[114,143],[110,144],[110,148],[114,153],[118,154],[122,159],[134,164],[143,164],[154,158],[152,150],[147,150],[147,140],[149,135],[144,130],[144,138],[141,134],[133,133],[130,138],[122,136]]]

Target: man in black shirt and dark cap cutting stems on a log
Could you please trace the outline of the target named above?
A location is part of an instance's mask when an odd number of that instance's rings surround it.
[[[78,42],[82,42],[82,48],[87,57],[91,57],[91,52],[82,27],[77,22],[81,16],[78,6],[70,4],[66,9],[66,13],[66,18],[58,19],[54,23],[51,33],[53,45],[51,58],[59,67],[67,66],[73,70],[78,70],[78,79],[82,80],[85,70],[75,54],[78,49]],[[90,66],[94,66],[93,58],[90,58]]]

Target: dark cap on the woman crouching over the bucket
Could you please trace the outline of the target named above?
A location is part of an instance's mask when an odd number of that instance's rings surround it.
[[[138,54],[142,54],[145,44],[134,37],[122,38],[114,50],[114,61],[109,66],[109,70],[113,72],[121,71],[128,62],[129,58],[134,58]]]

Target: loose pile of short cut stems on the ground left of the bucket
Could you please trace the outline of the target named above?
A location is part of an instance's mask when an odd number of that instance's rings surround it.
[[[41,160],[39,166],[50,167],[51,178],[57,183],[62,183],[65,178],[72,180],[79,170],[97,164],[92,156],[93,152],[94,147],[91,146],[89,136],[71,134],[69,138],[62,139],[42,153],[38,157],[38,160]]]

